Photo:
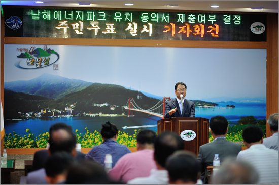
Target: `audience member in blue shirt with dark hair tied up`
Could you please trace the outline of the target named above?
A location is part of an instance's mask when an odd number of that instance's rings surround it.
[[[104,167],[104,157],[106,154],[112,155],[112,167],[116,162],[125,154],[130,153],[130,149],[126,145],[117,143],[118,128],[115,124],[107,123],[102,124],[101,136],[103,139],[102,144],[94,146],[86,155],[86,159],[93,159],[101,166]]]

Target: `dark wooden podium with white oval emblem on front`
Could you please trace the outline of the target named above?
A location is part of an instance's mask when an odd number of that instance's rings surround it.
[[[177,133],[184,141],[184,150],[198,156],[199,146],[208,143],[209,120],[206,118],[166,118],[157,121],[157,132],[171,131]],[[195,135],[196,134],[196,135]]]

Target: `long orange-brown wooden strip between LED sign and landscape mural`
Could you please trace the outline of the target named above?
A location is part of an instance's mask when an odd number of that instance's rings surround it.
[[[259,48],[265,49],[266,42],[236,41],[187,41],[187,40],[129,40],[129,39],[85,39],[85,38],[24,38],[5,37],[5,44],[41,45],[108,45],[131,47],[179,47],[179,48]]]

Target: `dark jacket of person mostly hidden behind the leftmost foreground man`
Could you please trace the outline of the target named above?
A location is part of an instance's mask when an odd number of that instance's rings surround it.
[[[39,150],[39,151],[35,152],[32,171],[43,168],[48,157],[49,157],[48,150]],[[77,161],[81,161],[81,160],[85,159],[84,157],[85,157],[84,153],[77,152],[77,156],[76,156]]]

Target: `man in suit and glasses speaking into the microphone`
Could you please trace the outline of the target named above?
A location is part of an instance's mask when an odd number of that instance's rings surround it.
[[[187,86],[177,82],[176,98],[166,102],[164,118],[195,117],[195,103],[185,99]]]

